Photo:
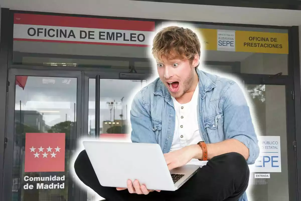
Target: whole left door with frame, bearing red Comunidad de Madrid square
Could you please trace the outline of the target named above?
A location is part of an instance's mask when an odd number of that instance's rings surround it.
[[[4,200],[75,199],[69,162],[81,133],[81,72],[10,69]]]

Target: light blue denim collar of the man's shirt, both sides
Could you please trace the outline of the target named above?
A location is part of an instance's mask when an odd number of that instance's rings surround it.
[[[196,68],[196,71],[199,77],[200,95],[204,99],[206,92],[212,90],[216,85],[203,71],[200,71],[198,68]],[[169,102],[171,99],[168,89],[161,81],[154,94],[164,97],[166,102]]]

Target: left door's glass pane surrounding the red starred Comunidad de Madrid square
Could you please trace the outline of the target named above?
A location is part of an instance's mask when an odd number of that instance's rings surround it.
[[[68,168],[70,144],[76,133],[77,79],[70,77],[16,76],[15,132],[13,155],[13,201],[67,201],[73,190]],[[26,133],[65,133],[64,172],[24,172]],[[43,150],[46,150],[44,147]],[[42,154],[42,153],[41,153]],[[40,155],[41,156],[41,155]],[[37,189],[43,181],[24,181],[29,177],[62,177],[63,189]],[[51,184],[53,181],[44,181]],[[33,189],[24,189],[26,184]],[[57,184],[54,181],[54,184]]]

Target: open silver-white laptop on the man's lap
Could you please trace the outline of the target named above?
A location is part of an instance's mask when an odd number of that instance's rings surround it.
[[[169,171],[159,144],[83,141],[99,183],[126,188],[138,180],[149,190],[175,191],[200,168],[184,165]]]

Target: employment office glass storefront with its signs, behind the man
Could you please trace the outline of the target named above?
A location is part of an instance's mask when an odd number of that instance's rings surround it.
[[[70,174],[77,142],[129,133],[131,98],[156,75],[152,34],[171,22],[2,8],[2,200],[92,200]],[[240,80],[250,100],[266,154],[249,199],[299,200],[299,28],[177,22],[202,36],[199,68]]]

